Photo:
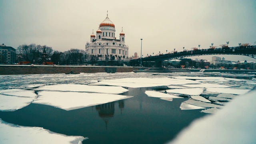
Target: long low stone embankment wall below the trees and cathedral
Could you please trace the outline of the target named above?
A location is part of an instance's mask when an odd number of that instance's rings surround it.
[[[118,66],[54,66],[54,65],[0,65],[0,75],[115,73],[132,72],[139,68]]]

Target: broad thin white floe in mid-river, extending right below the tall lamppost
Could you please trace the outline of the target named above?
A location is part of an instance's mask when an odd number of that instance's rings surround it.
[[[193,80],[177,80],[176,78],[122,78],[116,80],[102,80],[91,85],[123,86],[129,88],[142,88],[153,86],[169,86],[181,84],[198,84]]]

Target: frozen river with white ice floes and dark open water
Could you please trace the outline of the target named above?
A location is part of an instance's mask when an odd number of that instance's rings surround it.
[[[256,79],[131,72],[0,76],[0,84],[1,144],[162,144],[252,90]]]

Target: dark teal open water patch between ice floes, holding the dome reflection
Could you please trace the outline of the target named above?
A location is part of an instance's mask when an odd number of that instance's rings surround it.
[[[162,144],[196,118],[206,114],[200,110],[180,110],[181,102],[148,97],[145,90],[128,88],[125,100],[77,110],[62,110],[52,106],[30,104],[14,112],[0,112],[2,120],[20,126],[36,126],[69,136],[84,136],[84,144]]]

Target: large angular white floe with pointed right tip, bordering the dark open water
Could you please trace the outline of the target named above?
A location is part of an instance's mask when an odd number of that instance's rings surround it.
[[[54,106],[64,110],[75,110],[131,97],[103,93],[41,91],[38,92],[38,98],[33,103]]]

